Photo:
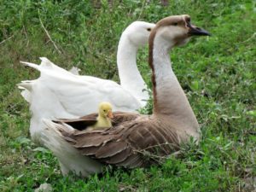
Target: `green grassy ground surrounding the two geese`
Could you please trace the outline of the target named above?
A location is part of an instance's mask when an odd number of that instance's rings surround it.
[[[88,2],[0,0],[0,191],[32,191],[40,183],[52,184],[55,191],[252,191],[255,1],[184,0],[167,7],[160,1],[125,0],[111,6],[102,1],[101,9]],[[118,81],[115,55],[125,26],[181,14],[212,32],[171,53],[177,79],[201,124],[199,146],[191,144],[178,158],[147,169],[108,167],[86,179],[62,177],[49,150],[30,140],[31,114],[15,84],[38,73],[19,61],[38,63],[39,56],[46,56],[61,67],[77,66],[83,74]],[[147,51],[140,51],[137,62],[150,85]]]

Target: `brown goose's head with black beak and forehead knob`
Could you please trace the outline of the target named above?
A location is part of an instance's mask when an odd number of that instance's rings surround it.
[[[150,39],[158,38],[167,49],[187,44],[192,36],[209,36],[210,33],[190,23],[189,15],[174,15],[157,22]],[[150,40],[149,40],[150,42]]]

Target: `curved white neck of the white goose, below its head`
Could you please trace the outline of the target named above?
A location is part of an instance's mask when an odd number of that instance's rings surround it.
[[[123,34],[119,41],[117,65],[121,86],[135,96],[143,107],[149,96],[146,91],[147,85],[137,68],[137,49],[137,46],[131,44],[129,38]]]

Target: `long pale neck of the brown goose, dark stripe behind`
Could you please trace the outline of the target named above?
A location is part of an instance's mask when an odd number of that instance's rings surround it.
[[[167,115],[170,119],[196,127],[198,124],[195,114],[172,71],[169,50],[170,44],[160,37],[154,37],[149,45],[149,64],[153,70],[154,114]]]

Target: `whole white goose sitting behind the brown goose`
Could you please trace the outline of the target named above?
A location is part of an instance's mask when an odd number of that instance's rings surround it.
[[[136,111],[148,100],[146,84],[137,69],[137,49],[148,42],[154,24],[135,21],[123,32],[118,49],[118,68],[121,84],[91,76],[67,72],[43,57],[41,64],[22,62],[40,72],[35,80],[18,84],[21,95],[30,103],[32,140],[42,143],[42,119],[78,118],[95,113],[99,102],[112,103],[113,110]],[[125,73],[126,71],[126,73]],[[133,74],[130,77],[130,74]],[[129,84],[129,79],[133,86]]]

